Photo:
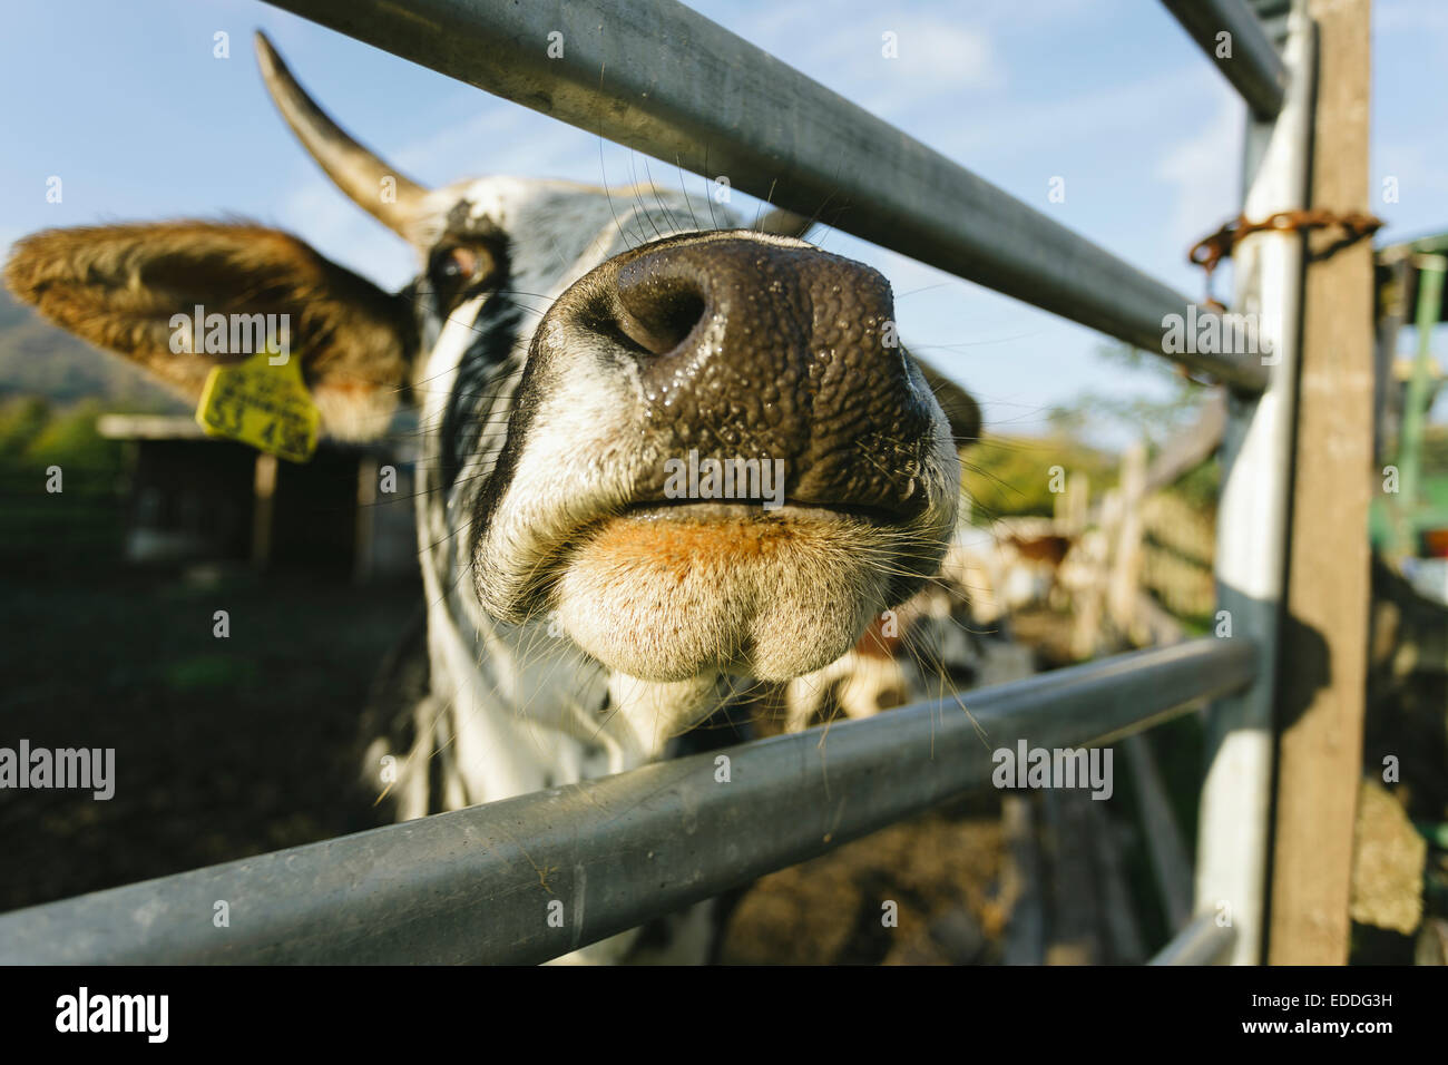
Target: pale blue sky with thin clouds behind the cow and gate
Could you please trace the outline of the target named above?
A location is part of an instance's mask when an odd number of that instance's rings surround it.
[[[696,10],[1189,294],[1193,239],[1235,213],[1242,106],[1153,0],[699,0]],[[624,184],[644,156],[258,0],[12,0],[0,88],[0,245],[45,226],[237,214],[395,285],[411,254],[301,152],[265,97],[265,29],[319,101],[429,184],[507,172]],[[898,35],[899,58],[880,55]],[[213,35],[230,58],[213,58]],[[1448,3],[1377,0],[1371,181],[1396,177],[1378,241],[1448,229]],[[654,180],[678,183],[650,161]],[[46,203],[46,178],[64,200]],[[1066,201],[1050,203],[1053,177]],[[702,178],[688,175],[691,187]],[[895,285],[908,345],[1037,432],[1086,388],[1150,393],[1102,338],[831,232],[830,251]],[[1224,288],[1225,291],[1225,288]]]

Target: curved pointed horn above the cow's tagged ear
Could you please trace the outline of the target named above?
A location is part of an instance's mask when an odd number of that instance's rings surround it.
[[[327,177],[362,210],[411,242],[427,190],[388,167],[327,117],[261,30],[256,32],[256,61],[277,110]]]

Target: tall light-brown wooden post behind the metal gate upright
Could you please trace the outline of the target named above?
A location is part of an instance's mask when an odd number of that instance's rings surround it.
[[[1368,0],[1318,23],[1309,206],[1368,207]],[[1310,249],[1332,239],[1315,238]],[[1293,529],[1277,688],[1268,961],[1344,964],[1363,756],[1373,464],[1373,252],[1312,262],[1303,290]]]

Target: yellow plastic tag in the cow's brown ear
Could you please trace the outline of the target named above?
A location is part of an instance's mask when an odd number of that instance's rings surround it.
[[[272,358],[287,361],[274,367]],[[306,462],[317,449],[321,416],[301,380],[297,354],[259,351],[245,362],[211,367],[195,422],[207,436],[226,436],[288,462]]]

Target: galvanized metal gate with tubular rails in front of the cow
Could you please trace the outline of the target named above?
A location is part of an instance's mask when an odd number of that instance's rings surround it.
[[[1147,351],[1192,304],[673,0],[274,3],[778,206],[847,204],[837,225],[856,236]],[[1306,14],[1258,3],[1280,16],[1279,51],[1244,0],[1166,6],[1209,57],[1231,35],[1218,67],[1251,109],[1244,213],[1305,206]],[[555,30],[562,58],[542,45]],[[540,962],[989,787],[977,729],[993,746],[1098,745],[1211,697],[1197,917],[1158,961],[1257,961],[1302,239],[1257,233],[1235,258],[1235,304],[1273,330],[1273,356],[1170,356],[1231,387],[1216,559],[1231,636],[977,690],[975,722],[933,703],[835,724],[824,746],[815,732],[744,743],[724,752],[728,784],[699,755],[16,911],[0,917],[0,959]],[[563,927],[542,919],[549,900]]]

